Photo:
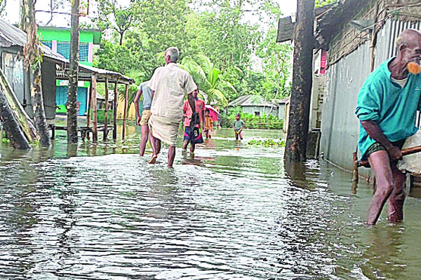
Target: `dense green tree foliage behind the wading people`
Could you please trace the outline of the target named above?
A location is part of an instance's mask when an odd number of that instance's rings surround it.
[[[210,104],[225,106],[246,94],[272,102],[290,92],[290,45],[276,43],[274,26],[265,32],[244,20],[251,6],[273,25],[281,16],[276,0],[97,1],[102,10],[91,27],[113,33],[102,37],[94,66],[126,76],[138,71],[142,82],[163,65],[163,51],[176,46]]]

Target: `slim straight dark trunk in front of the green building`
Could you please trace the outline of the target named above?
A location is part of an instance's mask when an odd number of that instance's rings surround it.
[[[77,82],[79,71],[79,0],[72,0],[72,36],[70,39],[69,92],[67,94],[67,143],[77,138]]]

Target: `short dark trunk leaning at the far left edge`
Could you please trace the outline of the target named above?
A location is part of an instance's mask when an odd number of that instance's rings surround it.
[[[7,138],[11,141],[13,147],[18,149],[30,149],[29,142],[25,133],[20,128],[18,120],[9,106],[4,92],[0,88],[0,120],[6,131]],[[0,132],[1,133],[1,132]]]

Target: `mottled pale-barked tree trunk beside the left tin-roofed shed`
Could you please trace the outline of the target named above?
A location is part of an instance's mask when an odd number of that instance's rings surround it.
[[[38,26],[35,20],[34,0],[22,0],[21,25],[27,32],[27,43],[23,47],[25,69],[32,73],[31,97],[34,111],[35,127],[39,134],[39,144],[43,147],[51,146],[50,134],[44,109],[44,100],[41,87],[41,61],[42,54],[38,40]]]

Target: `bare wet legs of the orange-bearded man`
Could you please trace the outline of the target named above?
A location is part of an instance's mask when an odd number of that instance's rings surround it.
[[[394,194],[392,200],[389,200],[389,220],[402,221],[403,218],[403,201],[405,200],[405,174],[399,172],[396,165],[392,167],[387,151],[377,151],[372,153],[368,158],[370,166],[375,174],[377,189],[370,202],[368,209],[367,224],[374,225],[382,212],[387,199]]]

